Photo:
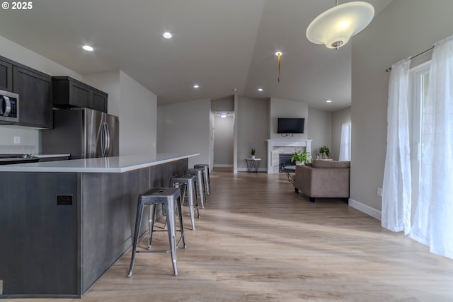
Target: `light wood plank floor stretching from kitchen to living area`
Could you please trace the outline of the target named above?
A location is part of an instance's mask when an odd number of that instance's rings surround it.
[[[195,231],[184,217],[178,277],[170,255],[139,254],[127,278],[128,251],[81,301],[453,301],[453,260],[343,201],[308,204],[284,174],[211,181]]]

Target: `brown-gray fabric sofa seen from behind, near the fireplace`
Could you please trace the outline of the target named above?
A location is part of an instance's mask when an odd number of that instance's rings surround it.
[[[311,165],[296,165],[294,188],[309,197],[349,199],[350,161],[315,160]]]

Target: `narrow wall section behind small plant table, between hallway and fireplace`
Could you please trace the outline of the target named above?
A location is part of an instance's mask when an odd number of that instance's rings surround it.
[[[256,149],[256,158],[261,158],[260,170],[267,166],[267,144],[269,128],[269,102],[253,98],[239,98],[235,110],[237,123],[237,170],[246,171],[246,158],[251,149]]]

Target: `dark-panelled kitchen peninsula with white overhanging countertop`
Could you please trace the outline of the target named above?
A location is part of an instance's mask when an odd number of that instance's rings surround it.
[[[197,155],[0,166],[0,298],[83,296],[132,246],[138,194]]]

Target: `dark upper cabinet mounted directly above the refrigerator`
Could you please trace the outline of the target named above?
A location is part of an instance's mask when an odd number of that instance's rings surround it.
[[[54,106],[81,107],[107,112],[108,94],[69,76],[52,77]]]

